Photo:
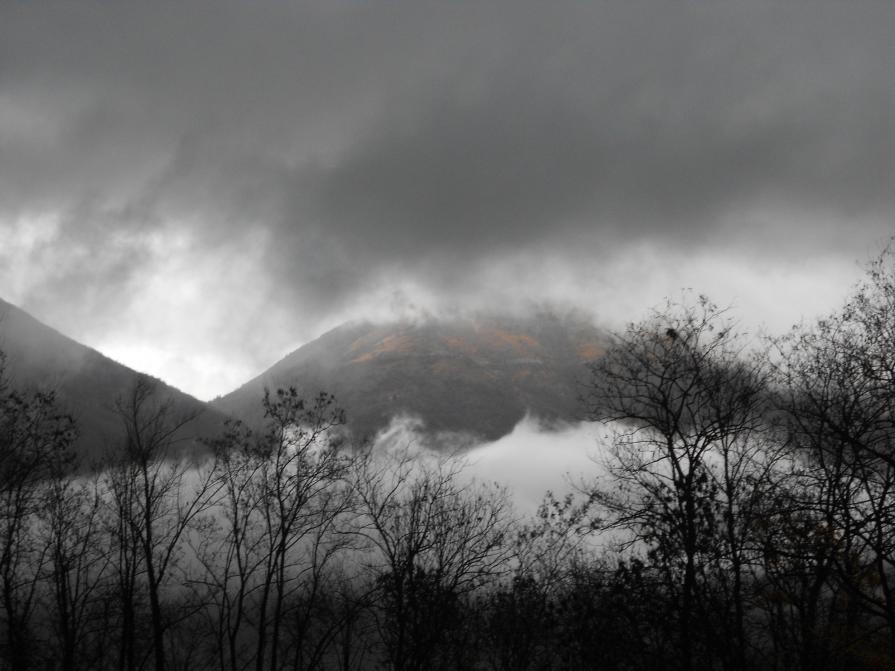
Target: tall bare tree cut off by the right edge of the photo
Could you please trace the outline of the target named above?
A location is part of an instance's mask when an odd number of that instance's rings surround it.
[[[895,263],[887,249],[843,308],[780,339],[778,381],[810,504],[851,599],[895,658]],[[821,526],[822,525],[822,526]]]

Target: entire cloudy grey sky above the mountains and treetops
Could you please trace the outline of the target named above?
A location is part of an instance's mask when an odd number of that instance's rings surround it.
[[[0,2],[0,297],[199,398],[337,324],[682,287],[781,331],[893,233],[895,3]]]

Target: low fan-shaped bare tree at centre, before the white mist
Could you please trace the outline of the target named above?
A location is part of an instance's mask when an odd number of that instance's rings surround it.
[[[459,462],[406,451],[371,453],[359,466],[357,533],[375,576],[388,663],[395,671],[435,668],[461,599],[509,570],[506,493],[464,485]]]

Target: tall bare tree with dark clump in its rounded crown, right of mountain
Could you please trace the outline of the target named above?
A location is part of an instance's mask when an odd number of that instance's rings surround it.
[[[760,360],[746,355],[725,311],[699,297],[631,324],[591,372],[591,414],[615,431],[616,488],[594,492],[608,526],[648,548],[669,587],[679,586],[681,668],[694,667],[697,641],[705,647],[713,634],[725,665],[743,668],[747,535],[754,485],[771,467],[757,443],[767,398]],[[719,579],[723,617],[701,617]]]

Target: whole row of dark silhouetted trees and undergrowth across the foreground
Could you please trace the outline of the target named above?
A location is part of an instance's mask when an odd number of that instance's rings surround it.
[[[702,298],[631,325],[586,389],[600,475],[531,520],[294,390],[191,463],[137,382],[75,476],[74,421],[4,377],[0,668],[895,668],[893,273],[760,346]]]

